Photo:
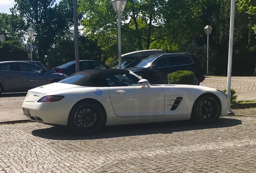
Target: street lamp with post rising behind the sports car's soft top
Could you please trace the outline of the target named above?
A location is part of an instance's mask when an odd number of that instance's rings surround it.
[[[118,61],[119,69],[121,69],[121,13],[124,11],[126,6],[126,0],[111,0],[111,4],[118,14]]]

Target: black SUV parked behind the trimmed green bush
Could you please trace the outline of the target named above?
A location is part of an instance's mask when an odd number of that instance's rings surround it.
[[[199,85],[205,79],[204,66],[195,55],[189,53],[155,54],[127,70],[149,80],[152,84],[168,84],[167,74],[178,70],[194,72],[195,85]]]

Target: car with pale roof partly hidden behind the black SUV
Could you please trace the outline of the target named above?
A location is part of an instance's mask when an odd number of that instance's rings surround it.
[[[161,49],[151,49],[151,50],[138,50],[134,52],[129,52],[126,54],[122,54],[121,58],[124,60],[121,64],[122,69],[134,67],[138,62],[142,59],[147,58],[153,54],[161,54],[163,50]],[[119,68],[119,65],[115,66],[114,68]]]

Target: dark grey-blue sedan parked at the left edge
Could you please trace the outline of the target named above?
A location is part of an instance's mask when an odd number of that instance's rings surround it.
[[[21,92],[41,85],[58,82],[66,74],[53,72],[41,66],[24,61],[0,62],[0,94]]]

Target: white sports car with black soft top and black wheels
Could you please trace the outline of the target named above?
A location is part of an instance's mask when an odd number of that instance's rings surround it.
[[[104,126],[193,120],[211,123],[228,113],[227,95],[195,85],[152,85],[129,70],[77,72],[28,91],[24,116],[90,134]]]

